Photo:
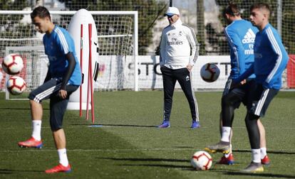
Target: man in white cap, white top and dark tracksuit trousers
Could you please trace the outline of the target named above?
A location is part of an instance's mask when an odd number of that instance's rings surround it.
[[[178,81],[185,92],[192,114],[192,129],[199,128],[197,100],[192,89],[192,67],[199,53],[199,43],[192,28],[182,24],[180,11],[169,7],[165,14],[170,23],[163,29],[160,43],[160,68],[164,87],[164,116],[159,128],[170,127],[172,96]]]

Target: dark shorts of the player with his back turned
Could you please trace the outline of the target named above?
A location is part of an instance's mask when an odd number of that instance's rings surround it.
[[[248,100],[249,100],[249,92],[250,88],[252,86],[252,83],[254,83],[253,79],[248,79],[247,82],[244,85],[238,85],[237,87],[234,87],[230,89],[232,85],[232,79],[229,77],[227,80],[227,83],[224,87],[224,91],[222,93],[222,98],[228,97],[230,100],[234,101],[234,108],[239,108],[241,102],[247,106]]]

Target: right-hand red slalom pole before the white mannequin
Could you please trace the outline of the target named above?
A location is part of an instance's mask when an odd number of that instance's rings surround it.
[[[88,23],[88,33],[89,33],[89,80],[90,80],[90,93],[91,93],[91,117],[92,124],[94,124],[94,102],[93,102],[93,75],[92,75],[92,48],[91,48],[91,38],[92,38],[92,24]]]

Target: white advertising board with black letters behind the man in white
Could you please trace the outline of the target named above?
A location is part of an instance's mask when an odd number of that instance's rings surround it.
[[[125,60],[120,58],[125,58]],[[229,56],[200,56],[192,70],[193,88],[197,90],[224,88],[230,72],[229,61]],[[133,89],[134,63],[132,56],[100,56],[98,62],[100,63],[100,72],[95,89]],[[138,63],[138,88],[162,89],[159,56],[140,55]],[[220,70],[217,81],[209,83],[202,80],[200,69],[205,63],[217,64]],[[175,88],[180,89],[180,85],[177,83]]]

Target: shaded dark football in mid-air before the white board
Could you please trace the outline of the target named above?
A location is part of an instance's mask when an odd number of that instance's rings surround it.
[[[214,82],[219,77],[220,70],[214,63],[206,63],[201,68],[201,77],[205,82]]]

